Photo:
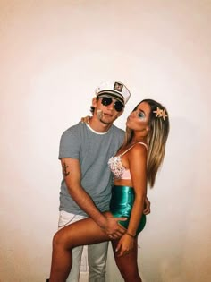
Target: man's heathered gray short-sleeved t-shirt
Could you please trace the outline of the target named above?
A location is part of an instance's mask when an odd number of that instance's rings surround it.
[[[101,211],[109,209],[111,199],[113,176],[107,162],[122,145],[123,137],[122,129],[114,124],[108,132],[98,133],[83,123],[73,125],[61,137],[59,159],[80,160],[81,185]],[[72,200],[64,180],[61,184],[59,210],[86,216]]]

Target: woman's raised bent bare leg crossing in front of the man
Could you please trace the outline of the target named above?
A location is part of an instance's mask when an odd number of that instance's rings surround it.
[[[81,219],[59,230],[53,239],[50,282],[65,282],[72,268],[72,248],[108,241],[91,218]]]

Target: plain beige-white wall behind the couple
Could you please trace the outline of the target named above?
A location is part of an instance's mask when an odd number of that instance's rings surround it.
[[[147,282],[211,281],[210,0],[0,1],[0,281],[46,281],[62,132],[97,84],[165,104],[171,133],[139,235]],[[122,281],[108,256],[107,281]]]

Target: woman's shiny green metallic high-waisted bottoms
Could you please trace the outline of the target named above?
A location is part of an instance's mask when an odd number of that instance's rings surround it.
[[[135,193],[132,187],[129,186],[113,186],[112,187],[112,199],[110,203],[110,211],[114,218],[125,217],[128,218],[125,221],[119,221],[119,223],[124,227],[128,228],[131,209],[135,199]],[[142,215],[139,227],[137,229],[136,235],[144,229],[146,225],[146,215]]]

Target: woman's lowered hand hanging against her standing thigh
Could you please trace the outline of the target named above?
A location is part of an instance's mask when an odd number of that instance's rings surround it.
[[[127,233],[122,235],[115,249],[115,252],[117,252],[117,256],[129,254],[134,248],[135,240],[136,239],[134,237],[131,237],[131,235],[127,235]]]

